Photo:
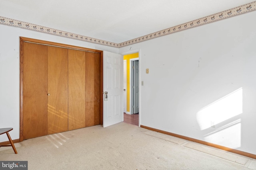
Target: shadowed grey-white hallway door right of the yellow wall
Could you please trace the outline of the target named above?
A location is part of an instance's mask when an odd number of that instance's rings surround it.
[[[134,113],[139,113],[139,61],[134,61]]]

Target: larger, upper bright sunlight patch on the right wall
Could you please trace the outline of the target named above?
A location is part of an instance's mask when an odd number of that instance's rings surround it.
[[[198,111],[196,118],[200,130],[215,127],[216,124],[241,114],[242,107],[242,88],[239,88]]]

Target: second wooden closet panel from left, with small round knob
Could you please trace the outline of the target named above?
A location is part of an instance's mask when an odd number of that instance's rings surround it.
[[[68,49],[48,46],[48,134],[68,131]]]

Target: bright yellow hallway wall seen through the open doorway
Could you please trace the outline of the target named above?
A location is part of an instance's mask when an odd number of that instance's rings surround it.
[[[134,58],[139,58],[139,53],[133,53],[133,54],[128,54],[128,55],[124,55],[124,60],[127,60],[127,111],[130,112],[130,59],[134,59]]]

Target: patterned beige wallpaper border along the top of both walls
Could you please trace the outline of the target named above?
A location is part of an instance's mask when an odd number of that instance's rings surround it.
[[[4,18],[2,16],[0,16],[0,24],[3,25],[9,25],[9,26],[13,26],[13,27],[20,27],[23,29],[30,29],[33,31],[39,31],[39,32],[43,32],[43,33],[48,33],[48,34],[52,34],[52,35],[58,35],[58,36],[62,36],[62,37],[68,37],[68,38],[72,38],[72,39],[78,39],[81,41],[87,41],[90,43],[96,43],[96,44],[101,44],[101,45],[107,45],[107,46],[111,46],[111,47],[125,47],[128,45],[132,45],[135,43],[139,43],[142,41],[146,41],[149,39],[153,39],[156,37],[161,37],[164,35],[169,35],[171,33],[176,33],[178,31],[183,31],[185,29],[189,29],[189,28],[193,28],[193,27],[197,27],[200,25],[204,25],[207,23],[212,23],[212,22],[216,22],[216,21],[220,21],[220,20],[224,20],[227,18],[231,18],[234,16],[238,16],[241,14],[246,14],[248,12],[253,12],[256,10],[256,1],[248,3],[248,4],[244,4],[242,6],[238,6],[236,8],[232,8],[230,10],[226,10],[223,12],[219,12],[210,16],[206,16],[204,18],[200,18],[194,21],[190,21],[187,23],[183,23],[174,27],[170,27],[167,29],[164,29],[162,31],[158,31],[155,33],[151,33],[148,35],[144,35],[142,37],[138,37],[136,39],[132,39],[129,41],[125,41],[123,43],[113,43],[113,42],[109,42],[109,41],[104,41],[101,39],[95,39],[92,37],[87,37],[84,35],[78,35],[75,33],[69,33],[66,31],[61,31],[58,29],[53,29],[53,28],[49,28],[49,27],[44,27],[44,26],[40,26],[40,25],[35,25],[32,23],[27,23],[27,22],[23,22],[23,21],[18,21],[18,20],[13,20],[10,18]]]

